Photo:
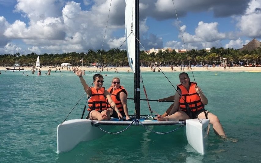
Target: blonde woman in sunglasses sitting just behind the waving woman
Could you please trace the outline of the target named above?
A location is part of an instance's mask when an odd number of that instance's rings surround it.
[[[107,91],[111,94],[112,100],[116,103],[119,112],[124,116],[126,115],[126,120],[129,120],[129,111],[127,107],[127,91],[124,89],[123,86],[120,85],[120,80],[117,77],[112,79],[112,85]],[[108,108],[110,104],[107,103]],[[114,111],[111,117],[117,117],[117,112]]]

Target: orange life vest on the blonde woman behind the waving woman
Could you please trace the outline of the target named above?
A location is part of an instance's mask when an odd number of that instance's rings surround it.
[[[120,92],[124,92],[127,96],[128,96],[128,93],[127,91],[125,90],[125,88],[123,86],[119,86],[118,89],[114,90],[113,91],[113,87],[110,87],[109,89],[107,89],[107,91],[111,94],[112,96],[112,101],[115,102],[117,108],[119,109],[119,111],[121,112],[123,110],[123,105],[119,99],[119,93]],[[111,107],[108,100],[107,100],[107,107]]]

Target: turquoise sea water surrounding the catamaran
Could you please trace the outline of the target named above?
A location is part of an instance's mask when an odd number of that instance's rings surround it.
[[[183,128],[167,135],[157,135],[132,126],[119,135],[105,135],[92,142],[79,143],[73,150],[57,154],[57,125],[82,98],[79,78],[72,72],[52,72],[37,76],[25,72],[2,71],[0,75],[0,162],[260,162],[260,81],[261,73],[194,72],[196,82],[208,97],[206,109],[216,114],[228,137],[237,143],[209,135],[207,154],[200,155],[183,137]],[[42,74],[45,74],[42,73]],[[103,73],[105,74],[105,73]],[[106,72],[104,86],[118,76],[133,98],[133,74]],[[179,72],[166,72],[173,85]],[[216,74],[216,75],[215,75]],[[90,84],[94,73],[84,76]],[[162,73],[143,72],[149,99],[175,93]],[[190,79],[193,80],[191,72]],[[143,91],[142,91],[143,92]],[[141,98],[144,93],[141,93]],[[86,95],[75,106],[69,119],[80,118]],[[150,102],[152,109],[164,113],[170,103]],[[148,114],[145,101],[142,114]],[[130,114],[134,104],[128,100]],[[111,132],[123,130],[123,126]],[[158,132],[172,128],[150,127]]]

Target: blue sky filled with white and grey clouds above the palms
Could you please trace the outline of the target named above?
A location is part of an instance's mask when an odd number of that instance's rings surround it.
[[[112,3],[111,3],[112,2]],[[124,0],[0,0],[0,54],[87,52],[119,48]],[[187,49],[239,49],[261,40],[261,0],[174,0]],[[172,0],[140,0],[146,50],[184,49]],[[125,46],[122,47],[123,49]]]

